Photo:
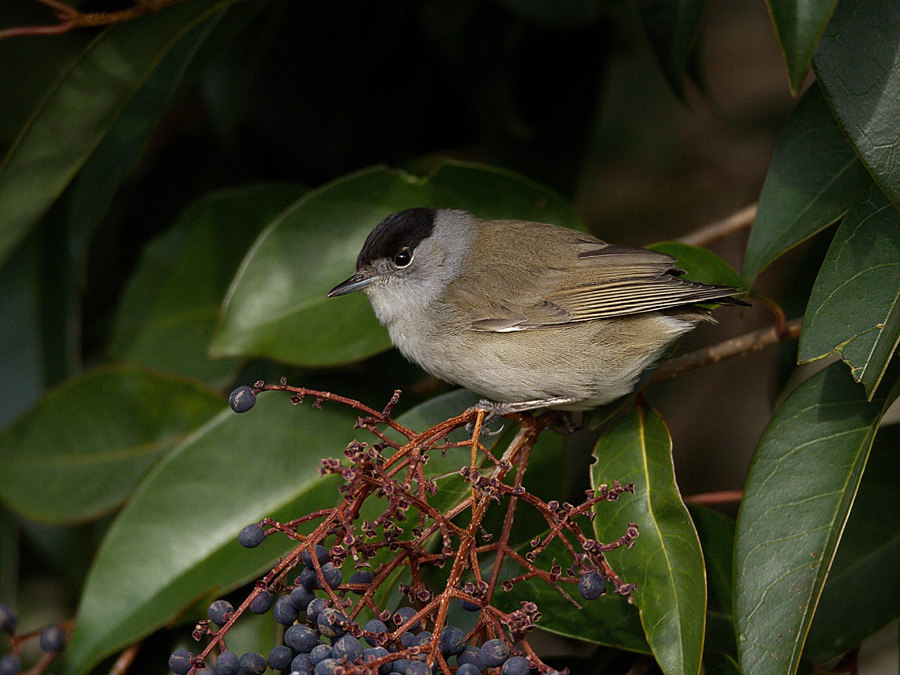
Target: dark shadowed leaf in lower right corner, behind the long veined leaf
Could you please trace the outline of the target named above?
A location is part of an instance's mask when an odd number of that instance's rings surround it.
[[[804,656],[822,663],[850,651],[900,616],[900,425],[880,429]]]

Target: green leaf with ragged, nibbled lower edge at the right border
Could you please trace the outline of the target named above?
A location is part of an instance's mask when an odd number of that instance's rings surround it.
[[[871,398],[900,341],[900,213],[871,185],[841,223],[803,317],[798,360],[837,352]]]

